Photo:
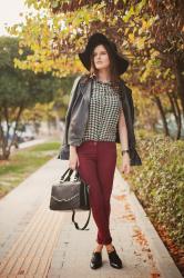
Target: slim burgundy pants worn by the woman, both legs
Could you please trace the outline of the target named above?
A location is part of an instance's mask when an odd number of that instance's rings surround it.
[[[116,165],[116,145],[111,141],[84,141],[76,147],[79,173],[90,186],[90,203],[94,221],[98,226],[96,242],[109,245],[110,234],[110,198]]]

